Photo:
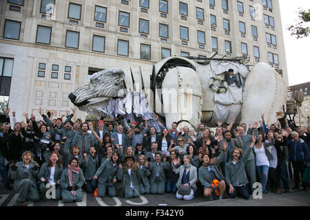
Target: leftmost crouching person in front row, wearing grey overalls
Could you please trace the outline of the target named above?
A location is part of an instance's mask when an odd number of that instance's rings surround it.
[[[37,175],[39,164],[33,161],[30,151],[25,151],[21,156],[22,162],[10,164],[11,179],[14,181],[13,187],[19,193],[17,203],[19,206],[27,206],[26,199],[37,201],[40,199],[37,188]]]

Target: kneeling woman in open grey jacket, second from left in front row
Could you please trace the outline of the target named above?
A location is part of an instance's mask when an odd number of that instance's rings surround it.
[[[54,175],[51,178],[52,173],[54,173]],[[43,198],[46,198],[46,192],[48,191],[48,189],[54,187],[55,197],[52,199],[61,199],[61,188],[59,186],[59,182],[62,173],[63,164],[61,164],[61,159],[59,159],[59,153],[54,151],[50,154],[49,162],[45,162],[44,164],[42,164],[38,174],[38,184]]]

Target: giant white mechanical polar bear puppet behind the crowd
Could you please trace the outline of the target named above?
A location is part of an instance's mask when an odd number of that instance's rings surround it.
[[[234,83],[218,93],[217,88],[225,85],[220,78],[228,69],[234,69],[242,87]],[[154,113],[165,119],[168,128],[172,122],[194,128],[201,122],[216,125],[218,120],[229,124],[233,117],[236,122],[251,124],[260,120],[262,113],[270,125],[287,100],[287,85],[266,63],[256,64],[249,72],[238,62],[203,65],[175,56],[153,66],[97,72],[69,98],[81,111],[99,117],[125,115],[125,121],[132,121],[143,116],[156,130]]]

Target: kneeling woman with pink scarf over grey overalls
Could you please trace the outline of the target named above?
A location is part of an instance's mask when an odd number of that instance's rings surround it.
[[[72,173],[72,179],[70,178],[70,173]],[[68,168],[65,168],[61,174],[60,186],[63,202],[82,201],[83,192],[81,187],[84,182],[85,178],[83,176],[83,171],[79,168],[78,159],[72,157],[70,159],[70,164],[68,164]]]

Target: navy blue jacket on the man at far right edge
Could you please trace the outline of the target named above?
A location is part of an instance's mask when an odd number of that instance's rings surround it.
[[[309,162],[309,148],[304,142],[304,140],[300,139],[298,142],[294,140],[290,140],[287,143],[289,147],[289,159],[296,161]]]

